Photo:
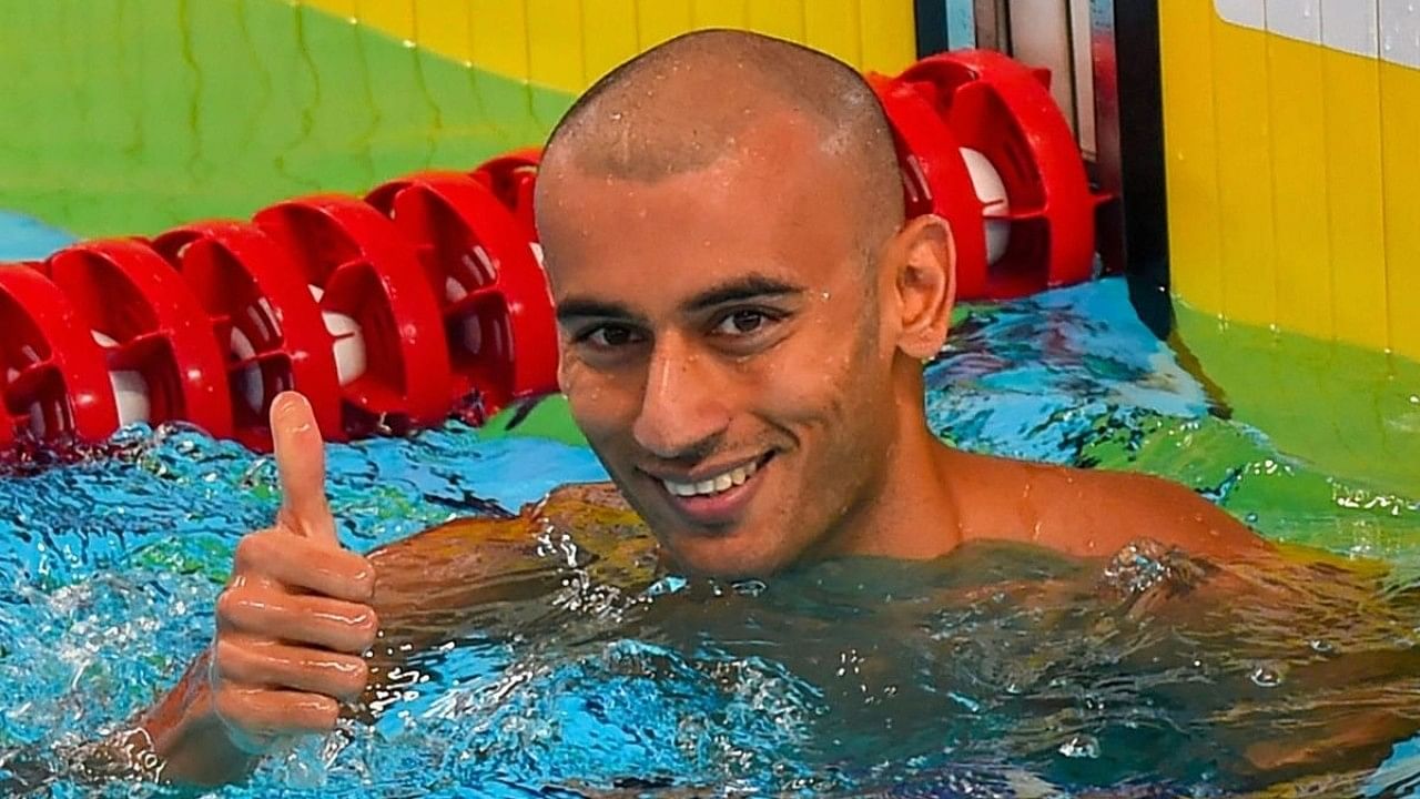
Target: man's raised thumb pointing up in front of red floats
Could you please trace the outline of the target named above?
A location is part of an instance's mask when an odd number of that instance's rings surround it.
[[[298,536],[339,546],[325,500],[325,441],[305,397],[284,391],[271,401],[271,442],[281,481],[278,525]]]

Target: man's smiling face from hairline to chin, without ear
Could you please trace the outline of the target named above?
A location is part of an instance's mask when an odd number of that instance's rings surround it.
[[[672,557],[717,576],[839,549],[897,427],[896,250],[865,245],[812,125],[743,144],[653,182],[568,165],[540,210],[572,415]]]

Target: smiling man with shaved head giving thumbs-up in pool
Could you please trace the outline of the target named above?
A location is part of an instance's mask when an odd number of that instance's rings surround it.
[[[666,43],[567,114],[537,210],[561,387],[615,488],[359,556],[337,540],[310,409],[283,395],[280,518],[241,540],[212,645],[131,741],[165,779],[234,779],[273,741],[331,729],[371,680],[378,630],[402,640],[486,601],[466,586],[548,522],[622,529],[717,577],[936,559],[973,539],[1085,557],[1139,536],[1213,559],[1268,550],[1170,482],[932,434],[923,361],[947,337],[951,235],[905,218],[888,121],[838,61],[746,33]]]

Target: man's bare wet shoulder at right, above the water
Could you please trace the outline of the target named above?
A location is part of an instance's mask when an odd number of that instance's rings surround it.
[[[1163,478],[1004,458],[984,458],[976,471],[983,475],[976,486],[980,496],[994,496],[997,506],[1014,505],[995,513],[995,527],[1005,533],[990,537],[1028,540],[1081,557],[1108,556],[1136,539],[1214,557],[1268,549],[1227,512]]]

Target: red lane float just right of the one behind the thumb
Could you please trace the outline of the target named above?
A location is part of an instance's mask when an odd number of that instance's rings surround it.
[[[452,375],[443,320],[415,247],[355,198],[321,195],[258,212],[297,266],[334,338],[345,427],[439,424]]]

